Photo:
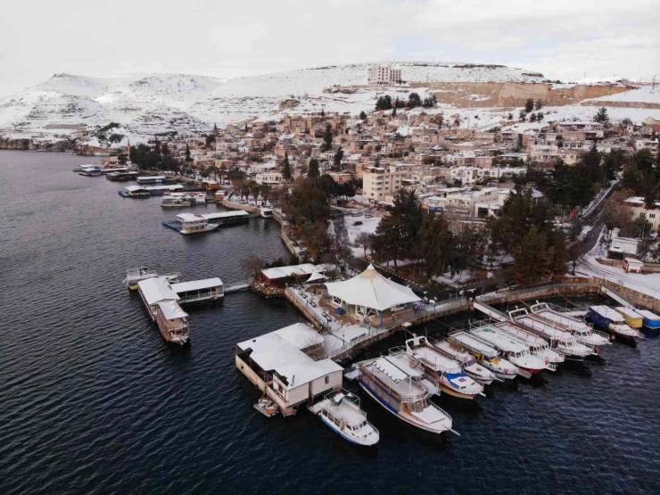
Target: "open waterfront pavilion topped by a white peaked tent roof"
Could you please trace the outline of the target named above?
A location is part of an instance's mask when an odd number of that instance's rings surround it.
[[[343,282],[326,283],[329,303],[360,325],[383,327],[412,316],[421,299],[405,285],[376,271],[373,265]]]

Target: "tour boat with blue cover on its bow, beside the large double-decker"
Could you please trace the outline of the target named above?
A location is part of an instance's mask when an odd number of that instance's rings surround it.
[[[436,350],[426,337],[413,337],[406,341],[406,355],[424,369],[424,377],[432,384],[439,386],[442,392],[447,392],[458,399],[473,400],[477,395],[483,395],[483,385],[476,383],[461,367],[460,362]],[[397,351],[394,352],[394,355]],[[392,351],[390,351],[392,356]]]

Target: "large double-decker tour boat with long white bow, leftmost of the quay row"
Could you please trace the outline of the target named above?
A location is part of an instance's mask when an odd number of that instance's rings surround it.
[[[361,364],[358,380],[369,397],[408,425],[431,433],[456,433],[450,415],[431,402],[419,378],[417,371],[387,356]]]

